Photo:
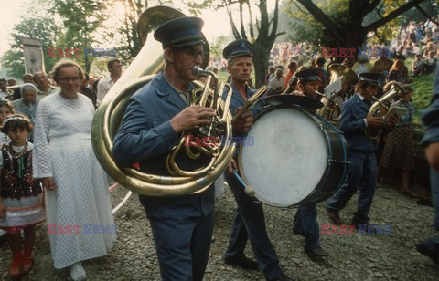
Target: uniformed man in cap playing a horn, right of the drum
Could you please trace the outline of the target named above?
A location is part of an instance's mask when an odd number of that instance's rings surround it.
[[[326,205],[329,219],[337,225],[342,224],[338,212],[346,206],[357,189],[359,189],[358,207],[351,224],[369,225],[369,210],[377,182],[377,158],[376,141],[369,140],[365,130],[369,126],[376,129],[384,126],[381,117],[368,115],[372,96],[377,95],[378,89],[383,85],[382,74],[360,73],[356,94],[341,107],[339,129],[344,132],[348,142],[350,166],[347,181],[327,200]],[[390,125],[393,126],[397,120],[397,117],[391,117]]]

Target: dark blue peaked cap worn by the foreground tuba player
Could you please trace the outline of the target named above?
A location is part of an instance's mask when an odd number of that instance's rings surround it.
[[[204,44],[201,28],[204,21],[197,16],[177,17],[158,26],[154,32],[155,40],[166,47],[185,47]]]

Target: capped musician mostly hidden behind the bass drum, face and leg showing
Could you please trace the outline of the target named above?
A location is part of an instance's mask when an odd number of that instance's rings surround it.
[[[295,74],[298,93],[313,99],[319,99],[316,91],[321,84],[319,68],[305,68]],[[293,232],[305,237],[305,253],[311,258],[321,258],[329,255],[320,245],[319,227],[317,224],[316,203],[303,203],[297,208],[294,216]]]

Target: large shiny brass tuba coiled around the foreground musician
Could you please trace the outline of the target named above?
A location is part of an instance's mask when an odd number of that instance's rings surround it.
[[[227,145],[219,146],[218,137],[224,134],[231,140],[231,114],[228,109],[231,98],[230,86],[219,82],[216,76],[208,72],[210,77],[215,79],[217,88],[209,89],[209,83],[202,85],[199,82],[194,84],[197,87],[204,88],[195,90],[193,100],[198,104],[211,106],[217,112],[212,124],[207,128],[196,128],[197,131],[189,131],[182,134],[182,138],[172,151],[170,151],[166,167],[173,176],[156,175],[140,172],[134,168],[119,168],[112,156],[112,142],[119,126],[123,120],[123,114],[128,106],[128,99],[134,92],[142,88],[147,82],[155,77],[155,74],[163,68],[163,51],[161,45],[154,39],[147,40],[147,36],[152,36],[153,30],[165,22],[185,16],[181,12],[166,6],[155,6],[148,8],[139,17],[137,31],[141,43],[143,44],[137,57],[132,64],[118,79],[116,84],[102,99],[100,107],[97,109],[92,122],[91,140],[96,157],[100,161],[102,168],[112,176],[112,178],[121,183],[124,187],[134,193],[150,196],[177,196],[188,193],[198,193],[214,182],[227,167],[234,151],[231,141]],[[206,41],[206,40],[205,40]],[[209,57],[209,46],[205,44],[205,52]],[[209,58],[203,61],[206,67]],[[195,69],[195,71],[204,71]],[[226,102],[221,99],[221,90],[229,88],[229,96]],[[185,141],[185,134],[196,134],[201,137],[208,137],[213,140],[205,146],[185,147],[187,155],[197,159],[199,152],[211,156],[208,166],[199,168],[195,172],[187,172],[178,168],[174,161],[176,154],[182,148],[181,144]],[[229,145],[230,144],[230,145]],[[196,151],[194,151],[194,149]],[[198,150],[198,151],[197,151]],[[175,175],[175,176],[174,176]]]

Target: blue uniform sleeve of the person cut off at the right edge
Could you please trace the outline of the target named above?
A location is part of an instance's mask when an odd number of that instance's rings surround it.
[[[421,113],[425,134],[423,135],[423,146],[432,142],[439,142],[439,66],[436,66],[434,73],[434,88],[432,104]]]

